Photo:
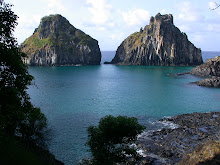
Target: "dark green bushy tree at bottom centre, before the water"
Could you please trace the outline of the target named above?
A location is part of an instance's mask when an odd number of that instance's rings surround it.
[[[123,162],[127,156],[137,158],[136,149],[131,144],[145,127],[136,118],[106,116],[99,125],[88,128],[88,142],[94,164]]]

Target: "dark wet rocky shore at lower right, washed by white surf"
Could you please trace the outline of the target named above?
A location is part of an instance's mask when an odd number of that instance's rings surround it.
[[[137,146],[144,158],[139,164],[176,164],[197,146],[220,138],[220,112],[183,114],[160,121],[178,127],[142,133]]]

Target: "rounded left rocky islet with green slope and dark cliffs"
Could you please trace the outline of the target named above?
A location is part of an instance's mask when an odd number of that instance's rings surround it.
[[[99,65],[101,61],[98,41],[58,14],[43,17],[21,48],[28,65]]]

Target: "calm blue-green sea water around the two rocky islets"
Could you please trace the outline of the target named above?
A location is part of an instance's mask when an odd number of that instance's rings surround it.
[[[102,52],[111,61],[115,52]],[[219,55],[203,52],[203,59]],[[192,75],[175,76],[192,67],[63,66],[30,67],[32,103],[48,118],[49,150],[66,165],[90,156],[87,128],[105,115],[137,117],[147,129],[164,116],[220,111],[220,89],[199,87]],[[155,124],[156,123],[156,124]]]

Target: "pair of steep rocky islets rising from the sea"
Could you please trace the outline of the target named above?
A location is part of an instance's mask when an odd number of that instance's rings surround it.
[[[21,45],[28,65],[98,65],[98,42],[73,27],[61,15],[41,20],[34,34]],[[173,24],[172,15],[157,14],[145,26],[126,38],[111,64],[182,66],[202,63],[201,50],[188,41]]]

